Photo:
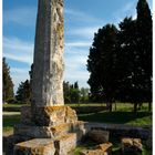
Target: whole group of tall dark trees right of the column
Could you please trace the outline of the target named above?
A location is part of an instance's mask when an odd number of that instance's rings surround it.
[[[91,100],[106,102],[152,103],[152,13],[146,0],[137,2],[137,18],[125,18],[118,28],[106,24],[94,34],[90,48],[87,83]]]

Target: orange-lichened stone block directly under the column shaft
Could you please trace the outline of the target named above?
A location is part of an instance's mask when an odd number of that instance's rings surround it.
[[[34,122],[40,126],[59,125],[78,121],[74,110],[69,106],[42,106],[35,107]]]

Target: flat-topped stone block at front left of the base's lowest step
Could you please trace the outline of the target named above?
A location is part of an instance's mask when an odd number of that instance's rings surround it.
[[[14,146],[14,155],[54,155],[55,147],[51,138],[34,138],[18,143]]]

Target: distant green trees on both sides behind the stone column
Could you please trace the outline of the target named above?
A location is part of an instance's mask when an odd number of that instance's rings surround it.
[[[18,86],[17,93],[14,95],[13,92],[13,82],[10,75],[10,66],[6,62],[6,58],[3,58],[3,103],[20,103],[20,104],[30,104],[31,102],[31,84],[30,81],[32,80],[32,68],[29,72],[30,80],[25,80],[21,82]],[[89,89],[79,87],[79,83],[74,82],[70,84],[69,82],[63,82],[63,94],[64,94],[64,102],[65,103],[86,103],[89,101]]]

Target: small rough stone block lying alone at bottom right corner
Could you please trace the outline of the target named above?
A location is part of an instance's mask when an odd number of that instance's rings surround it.
[[[136,153],[142,152],[143,145],[141,138],[122,138],[122,152],[126,153]]]

